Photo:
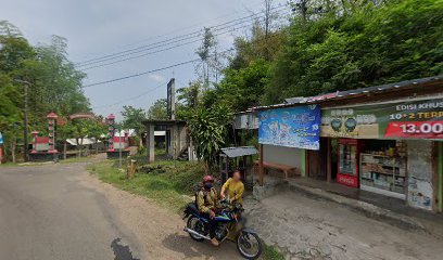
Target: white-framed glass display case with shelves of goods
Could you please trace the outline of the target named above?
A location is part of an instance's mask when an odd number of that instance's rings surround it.
[[[377,154],[360,154],[360,188],[406,198],[406,160]]]

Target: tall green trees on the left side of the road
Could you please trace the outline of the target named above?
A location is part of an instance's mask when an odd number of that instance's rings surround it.
[[[7,157],[16,141],[23,142],[24,127],[46,131],[50,112],[66,117],[90,110],[81,90],[85,74],[75,69],[66,50],[66,40],[58,36],[50,44],[33,47],[18,28],[0,21],[0,130],[10,147]],[[23,81],[28,82],[28,126],[23,126]]]

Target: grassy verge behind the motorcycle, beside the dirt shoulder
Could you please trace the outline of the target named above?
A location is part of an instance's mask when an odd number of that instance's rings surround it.
[[[159,161],[150,165],[149,173],[141,171],[131,180],[126,179],[126,170],[116,168],[117,161],[105,160],[91,164],[89,172],[114,186],[149,197],[163,207],[179,212],[193,199],[193,186],[201,181],[203,168],[188,161]],[[157,166],[162,166],[156,169]]]

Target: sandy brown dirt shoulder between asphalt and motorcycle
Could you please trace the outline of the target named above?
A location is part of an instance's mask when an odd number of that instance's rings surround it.
[[[138,238],[142,259],[241,259],[233,243],[214,248],[206,242],[192,240],[182,231],[185,221],[154,202],[121,191],[87,172],[80,174],[79,181],[109,200],[119,222]]]

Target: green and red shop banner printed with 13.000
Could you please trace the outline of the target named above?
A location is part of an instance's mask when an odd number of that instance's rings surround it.
[[[320,135],[443,139],[443,99],[324,109]]]

